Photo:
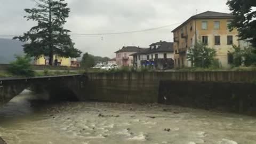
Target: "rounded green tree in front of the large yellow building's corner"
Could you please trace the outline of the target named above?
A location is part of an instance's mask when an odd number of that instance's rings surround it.
[[[188,50],[187,59],[191,61],[192,66],[209,68],[216,56],[216,51],[206,46],[202,42],[197,42],[194,47]]]

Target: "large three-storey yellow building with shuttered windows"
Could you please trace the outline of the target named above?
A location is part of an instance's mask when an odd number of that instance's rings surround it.
[[[238,31],[229,31],[228,25],[234,17],[229,13],[206,11],[190,17],[179,27],[174,35],[174,66],[190,67],[187,51],[201,41],[217,51],[216,59],[222,67],[229,67],[228,51],[233,51],[232,45],[239,45]]]

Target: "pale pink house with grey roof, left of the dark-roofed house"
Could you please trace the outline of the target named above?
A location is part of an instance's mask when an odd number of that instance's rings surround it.
[[[140,47],[124,46],[121,50],[115,52],[116,53],[116,64],[119,67],[133,66],[133,56],[131,56],[131,54],[139,52],[140,50],[141,50]]]

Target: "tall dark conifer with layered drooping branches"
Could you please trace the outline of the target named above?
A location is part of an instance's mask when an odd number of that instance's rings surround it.
[[[34,0],[36,8],[25,9],[28,13],[24,18],[37,21],[37,26],[32,27],[23,36],[14,37],[22,42],[27,42],[24,52],[31,57],[49,57],[50,65],[53,65],[53,55],[61,57],[77,58],[82,53],[75,49],[70,30],[64,29],[66,18],[70,9],[65,0]]]

